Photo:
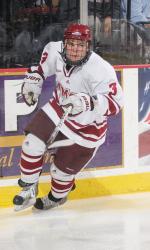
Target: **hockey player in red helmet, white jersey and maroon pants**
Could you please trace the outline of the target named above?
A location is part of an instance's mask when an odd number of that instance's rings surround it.
[[[38,101],[48,76],[56,75],[56,88],[53,97],[25,129],[18,181],[22,191],[13,199],[16,210],[30,203],[34,203],[36,209],[63,204],[73,188],[76,174],[105,142],[107,118],[116,115],[123,105],[122,89],[114,68],[91,51],[91,40],[88,26],[70,24],[64,32],[64,41],[48,43],[39,66],[31,67],[26,73],[22,95],[29,106]],[[74,144],[57,150],[50,169],[51,190],[35,201],[47,142],[70,105],[72,109],[56,140],[69,138]]]

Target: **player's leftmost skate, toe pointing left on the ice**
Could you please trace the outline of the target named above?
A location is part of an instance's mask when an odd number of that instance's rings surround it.
[[[19,179],[18,185],[22,187],[22,191],[13,199],[15,211],[20,211],[32,206],[36,202],[36,196],[38,194],[38,183],[25,183]]]

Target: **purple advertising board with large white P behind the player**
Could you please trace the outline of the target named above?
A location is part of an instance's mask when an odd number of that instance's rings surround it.
[[[24,70],[0,71],[0,176],[3,177],[19,175],[21,144],[24,138],[23,130],[36,111],[49,100],[55,87],[55,76],[47,78],[38,105],[28,107],[20,97]],[[116,72],[121,83],[121,70]],[[110,118],[108,123],[106,142],[100,147],[86,170],[123,166],[122,113]],[[44,157],[43,172],[49,171],[49,162],[50,155],[47,152]]]

